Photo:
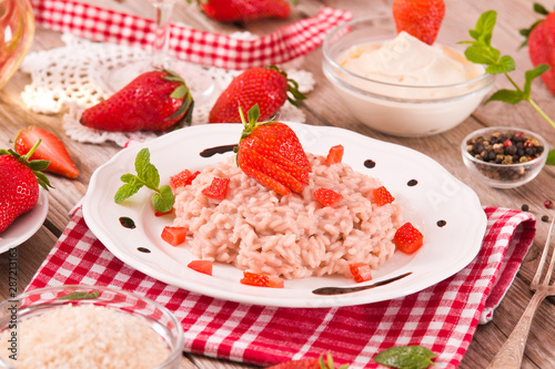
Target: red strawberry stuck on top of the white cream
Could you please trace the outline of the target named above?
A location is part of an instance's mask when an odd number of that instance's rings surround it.
[[[434,43],[445,16],[443,0],[394,0],[392,10],[397,33],[405,31],[422,42]]]

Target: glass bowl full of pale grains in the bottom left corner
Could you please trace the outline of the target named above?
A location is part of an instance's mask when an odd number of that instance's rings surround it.
[[[64,367],[80,367],[70,360],[84,357],[91,368],[178,369],[183,350],[183,328],[167,308],[99,286],[34,289],[0,304],[0,368],[9,369],[22,365],[23,356],[29,360],[33,355],[36,360],[61,360]],[[53,349],[50,342],[56,342]],[[150,358],[159,362],[147,363]],[[94,366],[98,360],[103,361]]]

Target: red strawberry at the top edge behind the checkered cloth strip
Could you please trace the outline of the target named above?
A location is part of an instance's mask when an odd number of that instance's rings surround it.
[[[188,0],[192,2],[193,0]],[[291,14],[286,0],[198,0],[204,13],[220,22],[250,22],[259,19],[285,19]]]

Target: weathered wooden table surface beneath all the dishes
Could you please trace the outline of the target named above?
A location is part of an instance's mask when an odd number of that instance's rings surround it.
[[[145,18],[152,14],[150,6],[138,0],[94,0],[90,2]],[[387,14],[391,12],[391,2],[392,0],[301,0],[294,10],[292,19],[289,21],[314,16],[322,6],[349,9],[354,12],[355,17],[376,13]],[[518,49],[523,41],[518,30],[527,28],[539,17],[532,11],[533,2],[531,0],[445,0],[445,2],[446,17],[444,22],[460,22],[465,30],[474,27],[483,11],[490,9],[497,11],[497,25],[493,43],[503,53],[514,57],[517,71],[513,73],[513,78],[522,85],[524,71],[531,69],[532,64],[527,49]],[[545,2],[546,8],[553,9],[554,1]],[[181,21],[196,29],[211,32],[231,33],[238,30],[246,30],[255,34],[266,34],[289,22],[254,22],[244,27],[220,24],[205,18],[195,6],[186,4],[184,0],[180,0],[175,8],[172,21]],[[63,42],[60,37],[59,32],[38,27],[31,51],[61,47]],[[460,41],[461,38],[468,39],[467,33],[453,35],[453,38],[455,41]],[[555,191],[552,183],[555,171],[553,167],[546,167],[536,180],[515,189],[494,189],[480,181],[474,181],[470,176],[461,158],[460,144],[467,133],[484,126],[512,125],[529,129],[544,135],[548,142],[555,142],[555,130],[525,103],[508,105],[493,102],[485,106],[481,105],[471,117],[446,133],[421,139],[383,135],[357,122],[339,101],[339,96],[322,73],[321,61],[321,48],[317,48],[305,57],[302,65],[302,69],[313,73],[317,82],[314,91],[302,104],[307,124],[341,126],[370,137],[412,147],[435,158],[454,176],[468,184],[477,193],[483,205],[521,208],[523,204],[527,204],[529,212],[536,215],[537,235],[534,245],[527,254],[513,286],[497,308],[493,321],[478,326],[460,366],[463,369],[486,367],[515,327],[532,297],[528,285],[538,263],[538,255],[548,229],[548,224],[542,222],[541,217],[546,214],[551,217],[554,213],[554,211],[546,209],[543,204],[544,201],[549,198],[555,201]],[[0,91],[0,142],[2,146],[8,147],[10,139],[14,139],[18,131],[28,125],[34,124],[44,127],[56,132],[64,142],[81,174],[77,180],[72,181],[56,175],[49,176],[56,189],[50,191],[48,195],[50,208],[47,221],[37,234],[18,247],[18,289],[20,291],[29,284],[31,277],[65,228],[69,222],[69,211],[84,195],[91,174],[120,150],[120,147],[111,143],[94,145],[72,141],[64,135],[61,129],[61,114],[37,114],[26,109],[21,92],[28,83],[30,83],[30,76],[18,72]],[[504,78],[497,78],[496,89],[508,86],[508,82]],[[539,79],[533,85],[533,96],[548,115],[555,117],[555,96],[548,93]],[[8,298],[8,254],[0,255],[0,276],[3,276],[0,278],[1,300]],[[555,368],[554,316],[554,299],[549,298],[542,304],[532,325],[523,368]],[[252,366],[189,353],[184,356],[183,361],[185,368],[252,368]]]

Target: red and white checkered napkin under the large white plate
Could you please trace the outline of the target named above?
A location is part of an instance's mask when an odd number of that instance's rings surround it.
[[[478,256],[435,286],[389,301],[334,308],[276,308],[225,301],[169,286],[115,258],[78,209],[28,289],[84,284],[144,295],[183,324],[185,350],[256,365],[330,351],[352,368],[376,368],[372,357],[392,346],[423,345],[436,368],[455,368],[481,314],[492,314],[511,286],[536,228],[529,213],[486,207]],[[440,263],[440,260],[438,260]],[[263,288],[263,287],[261,287]]]

